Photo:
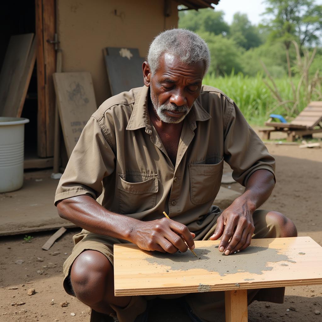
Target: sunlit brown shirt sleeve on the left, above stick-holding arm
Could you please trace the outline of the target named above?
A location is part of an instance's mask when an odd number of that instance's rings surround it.
[[[94,199],[103,191],[102,180],[115,169],[115,154],[96,118],[91,117],[71,153],[59,181],[55,205],[59,200],[89,195]]]

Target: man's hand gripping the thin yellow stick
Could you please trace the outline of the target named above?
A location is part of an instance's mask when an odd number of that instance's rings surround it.
[[[178,250],[185,252],[187,245],[194,249],[193,232],[189,232],[187,226],[177,223],[168,218],[153,220],[150,222],[140,221],[132,231],[131,241],[146,251],[161,251],[175,253]]]

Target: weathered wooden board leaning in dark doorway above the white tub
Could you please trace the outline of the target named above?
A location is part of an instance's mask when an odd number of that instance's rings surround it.
[[[25,74],[32,41],[33,33],[10,38],[0,73],[0,116],[17,116],[17,95]]]

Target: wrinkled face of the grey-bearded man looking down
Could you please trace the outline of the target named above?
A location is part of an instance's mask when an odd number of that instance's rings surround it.
[[[159,69],[151,77],[151,101],[158,118],[180,123],[200,94],[204,63],[187,65],[172,54],[161,57]]]

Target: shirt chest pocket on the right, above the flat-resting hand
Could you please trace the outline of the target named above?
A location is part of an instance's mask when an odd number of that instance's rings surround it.
[[[212,156],[189,164],[190,198],[193,204],[214,200],[223,176],[223,157]]]

